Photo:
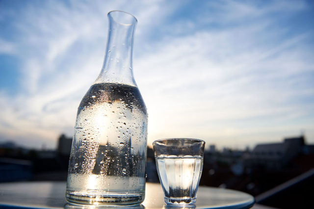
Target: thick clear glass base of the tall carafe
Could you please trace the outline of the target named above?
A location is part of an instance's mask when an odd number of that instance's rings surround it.
[[[139,205],[144,201],[145,194],[129,194],[124,192],[105,193],[82,193],[77,191],[67,191],[66,199],[74,205],[97,205],[97,206],[130,206]]]

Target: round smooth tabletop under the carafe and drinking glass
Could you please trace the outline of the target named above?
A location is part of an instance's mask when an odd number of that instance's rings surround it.
[[[0,183],[0,208],[87,208],[67,204],[65,188],[66,182]],[[254,198],[244,192],[200,186],[197,192],[196,204],[189,208],[246,209],[251,208],[253,205]],[[128,208],[168,209],[170,207],[164,204],[161,185],[146,183],[146,197],[142,205]],[[177,207],[171,207],[171,209],[175,208]],[[184,208],[187,207],[181,207],[181,209]]]

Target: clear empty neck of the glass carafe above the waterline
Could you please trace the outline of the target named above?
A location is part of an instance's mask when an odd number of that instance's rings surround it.
[[[108,13],[109,32],[105,61],[94,83],[136,86],[132,71],[133,34],[136,18],[122,11]]]

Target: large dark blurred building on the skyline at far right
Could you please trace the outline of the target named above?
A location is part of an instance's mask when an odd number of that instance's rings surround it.
[[[250,163],[280,169],[303,152],[304,136],[286,138],[283,143],[258,144],[251,152]]]

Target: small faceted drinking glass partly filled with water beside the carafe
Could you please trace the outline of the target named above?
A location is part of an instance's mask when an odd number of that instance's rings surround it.
[[[205,141],[190,138],[153,142],[159,180],[166,204],[190,205],[203,169]]]

